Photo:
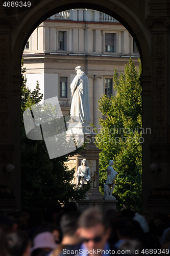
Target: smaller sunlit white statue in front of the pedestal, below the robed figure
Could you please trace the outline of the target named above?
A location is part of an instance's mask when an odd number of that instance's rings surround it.
[[[87,184],[87,182],[90,180],[90,168],[87,166],[86,159],[82,160],[82,165],[78,167],[77,174],[77,186],[84,187],[84,185]]]

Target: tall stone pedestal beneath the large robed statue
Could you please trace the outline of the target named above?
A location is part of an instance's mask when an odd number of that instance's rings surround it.
[[[80,129],[83,130],[83,136],[84,140],[89,140],[89,143],[87,144],[86,150],[83,152],[79,152],[74,157],[70,157],[69,161],[66,163],[69,169],[72,169],[73,167],[76,167],[75,177],[73,182],[76,183],[76,173],[78,170],[78,167],[81,165],[82,159],[86,159],[87,166],[90,168],[91,178],[90,181],[92,181],[92,186],[90,190],[88,191],[88,198],[77,201],[77,205],[79,210],[84,210],[88,207],[92,206],[98,206],[102,208],[103,212],[106,212],[108,209],[113,208],[116,209],[116,203],[117,200],[114,198],[107,198],[104,200],[104,196],[99,191],[99,153],[102,151],[96,145],[94,144],[95,134],[91,133],[90,130],[87,130],[87,126],[84,126],[77,123],[69,123],[68,128],[71,131],[71,134],[75,134],[77,136],[82,136],[82,133],[80,133]],[[90,126],[88,126],[90,127]],[[69,132],[68,129],[68,132]],[[85,133],[85,131],[87,133]],[[76,138],[76,136],[75,136]]]

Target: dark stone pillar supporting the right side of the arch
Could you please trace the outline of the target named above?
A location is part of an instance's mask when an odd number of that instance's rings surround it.
[[[169,211],[169,198],[164,188],[169,184],[169,17],[165,1],[150,3],[151,14],[145,24],[151,29],[152,45],[152,142],[151,162],[157,163],[161,172],[151,173],[152,192],[148,201],[149,210]],[[159,191],[158,191],[159,190]],[[157,191],[157,193],[156,193]],[[158,196],[159,195],[159,196]],[[159,209],[157,208],[159,206]]]

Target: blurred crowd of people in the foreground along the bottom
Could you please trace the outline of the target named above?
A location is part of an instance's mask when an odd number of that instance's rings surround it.
[[[98,207],[79,212],[76,204],[54,204],[44,211],[0,214],[0,256],[138,254],[165,255],[170,221],[131,209],[105,214]]]

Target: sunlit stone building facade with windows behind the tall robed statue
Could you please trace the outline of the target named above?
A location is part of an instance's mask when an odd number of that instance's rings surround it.
[[[63,115],[70,110],[75,68],[83,68],[89,77],[90,119],[97,129],[102,117],[98,100],[103,94],[116,94],[114,68],[124,72],[130,57],[138,66],[139,52],[127,29],[113,17],[89,9],[71,9],[46,19],[23,51],[27,86],[33,89],[38,80],[44,99],[58,97]]]

